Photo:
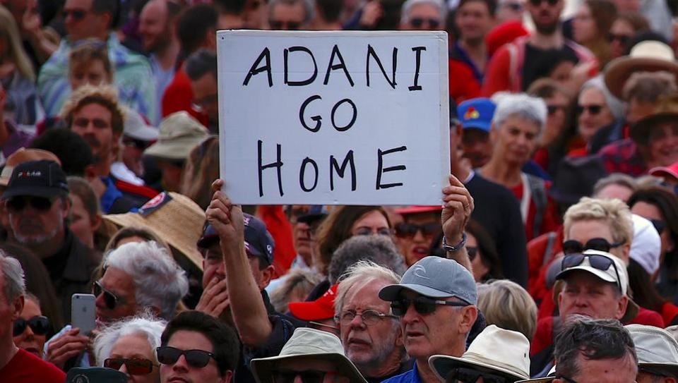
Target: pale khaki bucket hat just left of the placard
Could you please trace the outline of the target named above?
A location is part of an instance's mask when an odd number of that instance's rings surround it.
[[[177,111],[162,120],[157,142],[143,154],[163,159],[186,159],[208,135],[207,128],[198,120],[185,111]]]

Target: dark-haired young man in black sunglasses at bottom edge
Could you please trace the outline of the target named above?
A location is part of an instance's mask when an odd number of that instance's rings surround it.
[[[230,383],[240,342],[230,326],[198,311],[174,317],[156,349],[160,382]]]

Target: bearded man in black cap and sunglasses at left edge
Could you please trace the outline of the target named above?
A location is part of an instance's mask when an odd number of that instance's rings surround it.
[[[71,315],[71,295],[88,292],[90,276],[101,261],[73,235],[66,174],[57,162],[29,161],[12,171],[2,195],[9,238],[42,259],[61,300],[64,318]]]

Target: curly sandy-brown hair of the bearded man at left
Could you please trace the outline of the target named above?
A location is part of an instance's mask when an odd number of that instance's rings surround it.
[[[89,104],[100,104],[111,112],[111,128],[113,133],[122,134],[125,112],[118,103],[118,92],[109,85],[83,85],[74,91],[61,109],[61,118],[70,127],[73,114]]]

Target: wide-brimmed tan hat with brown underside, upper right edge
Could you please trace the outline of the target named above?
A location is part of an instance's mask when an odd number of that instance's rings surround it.
[[[622,99],[626,80],[634,72],[667,71],[678,75],[673,49],[658,41],[644,41],[636,44],[629,56],[610,61],[605,67],[605,85],[612,95]]]

